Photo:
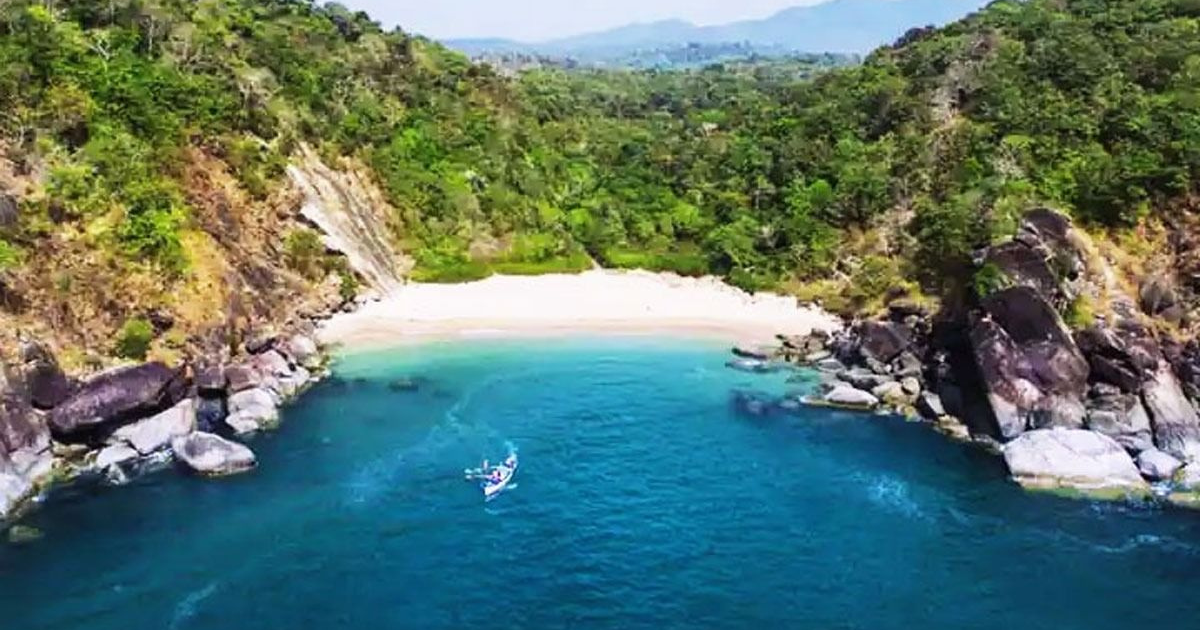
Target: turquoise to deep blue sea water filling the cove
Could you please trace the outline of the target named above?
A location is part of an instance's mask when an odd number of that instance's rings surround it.
[[[347,359],[254,474],[55,497],[4,628],[1194,629],[1200,514],[1031,496],[898,419],[754,416],[704,342]],[[398,378],[415,391],[391,388]],[[520,449],[484,504],[463,467]]]

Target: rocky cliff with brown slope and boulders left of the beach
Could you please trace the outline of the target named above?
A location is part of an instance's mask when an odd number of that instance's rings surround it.
[[[280,406],[319,378],[310,334],[358,302],[344,275],[382,294],[407,269],[380,236],[390,209],[354,164],[330,168],[302,150],[289,173],[256,199],[223,162],[193,151],[190,264],[172,283],[151,270],[114,272],[56,236],[36,252],[40,264],[4,276],[0,521],[56,480],[121,484],[172,461],[200,474],[252,466],[229,439],[275,426]],[[17,180],[0,178],[6,199],[38,194],[35,179]],[[290,251],[305,230],[325,245]],[[317,264],[298,264],[306,254]],[[86,281],[62,292],[50,286],[62,275]],[[131,319],[151,326],[140,361],[114,343]]]

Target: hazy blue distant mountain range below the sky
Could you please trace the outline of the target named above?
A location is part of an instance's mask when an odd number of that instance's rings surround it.
[[[470,56],[522,54],[569,58],[583,64],[619,65],[642,50],[689,44],[748,47],[755,54],[862,54],[890,43],[908,29],[943,25],[990,0],[829,0],[780,11],[766,19],[697,26],[683,20],[631,24],[601,32],[546,42],[500,38],[450,40],[445,44]]]

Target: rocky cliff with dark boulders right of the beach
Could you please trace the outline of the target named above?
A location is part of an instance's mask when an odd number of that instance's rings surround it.
[[[941,313],[894,302],[886,318],[785,355],[827,374],[828,404],[920,415],[1002,454],[1028,487],[1145,494],[1164,482],[1194,503],[1196,366],[1177,258],[1135,277],[1067,216],[1027,212],[980,251],[978,294]],[[816,342],[814,344],[814,342]],[[824,349],[822,349],[824,348]],[[857,391],[857,392],[856,392]]]

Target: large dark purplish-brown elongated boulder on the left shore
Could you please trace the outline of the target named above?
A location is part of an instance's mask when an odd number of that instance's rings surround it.
[[[100,432],[173,407],[187,392],[182,373],[152,362],[122,367],[84,383],[50,412],[50,431],[66,440]]]

